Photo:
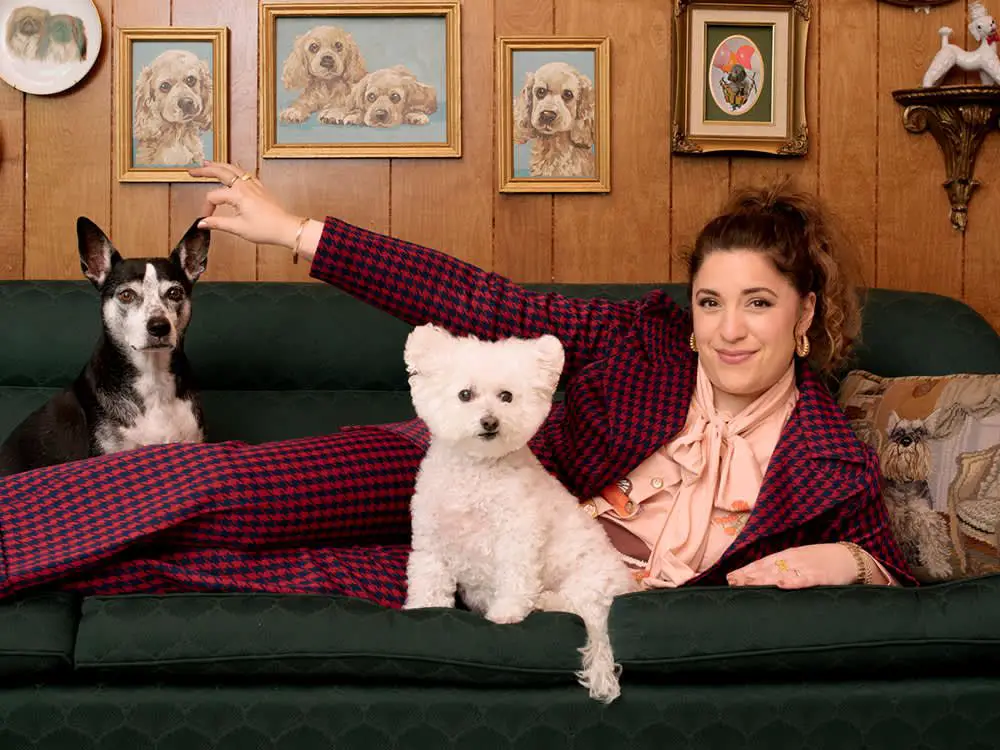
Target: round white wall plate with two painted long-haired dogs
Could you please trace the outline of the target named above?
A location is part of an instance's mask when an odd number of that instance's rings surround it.
[[[93,0],[0,0],[0,78],[19,91],[72,88],[100,49],[101,17]]]

